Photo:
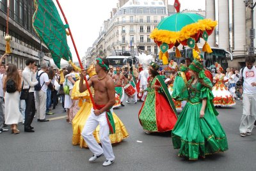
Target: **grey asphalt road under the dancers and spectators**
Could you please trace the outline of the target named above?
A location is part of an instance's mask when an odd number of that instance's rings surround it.
[[[227,152],[189,161],[177,157],[170,133],[147,135],[138,121],[140,102],[125,104],[115,113],[125,124],[129,137],[113,145],[115,163],[102,167],[104,158],[89,163],[92,153],[72,145],[72,126],[60,105],[47,123],[33,122],[35,133],[0,134],[0,170],[255,170],[256,131],[240,137],[241,101],[232,108],[218,108],[218,119],[227,133]]]

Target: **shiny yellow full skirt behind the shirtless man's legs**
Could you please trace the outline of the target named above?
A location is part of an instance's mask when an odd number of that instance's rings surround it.
[[[86,100],[86,102],[83,103],[83,106],[80,108],[80,110],[77,112],[76,116],[72,120],[72,127],[73,127],[72,144],[80,145],[81,148],[88,147],[81,133],[83,131],[84,124],[86,123],[86,120],[91,113],[91,108],[92,108],[92,103]],[[109,135],[109,138],[111,140],[111,143],[113,144],[113,143],[121,142],[122,140],[124,140],[124,138],[127,138],[129,134],[127,133],[127,130],[124,124],[117,117],[117,115],[114,112],[112,114],[115,121],[116,133]],[[99,130],[100,128],[99,126],[97,126],[96,130],[93,132],[93,136],[95,137],[98,143],[100,143]]]

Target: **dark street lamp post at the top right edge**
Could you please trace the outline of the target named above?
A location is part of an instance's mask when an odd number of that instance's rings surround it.
[[[253,39],[255,36],[255,31],[253,28],[253,8],[256,5],[256,2],[253,4],[253,0],[245,0],[244,1],[245,6],[251,9],[251,20],[252,20],[252,27],[250,29],[250,50],[249,50],[249,54],[254,54],[254,45],[253,45]]]

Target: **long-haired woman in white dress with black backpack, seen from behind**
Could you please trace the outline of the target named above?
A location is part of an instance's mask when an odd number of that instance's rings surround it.
[[[4,122],[5,124],[11,125],[12,133],[19,133],[17,124],[22,121],[22,115],[19,110],[20,95],[21,91],[21,79],[17,66],[14,64],[8,65],[6,75],[3,77],[3,90],[4,90]],[[12,84],[10,84],[13,82]],[[6,87],[6,84],[8,87]],[[10,89],[14,89],[15,92],[8,93]]]

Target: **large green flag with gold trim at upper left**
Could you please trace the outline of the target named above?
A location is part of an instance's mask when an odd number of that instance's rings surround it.
[[[60,59],[72,60],[67,44],[67,25],[64,25],[52,0],[34,0],[35,13],[33,28],[40,39],[51,51],[52,59],[60,68]]]

